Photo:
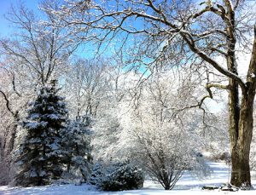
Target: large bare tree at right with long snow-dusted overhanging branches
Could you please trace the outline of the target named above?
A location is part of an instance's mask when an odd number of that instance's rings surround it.
[[[251,186],[248,158],[256,88],[255,3],[243,0],[67,1],[62,9],[44,9],[55,13],[62,24],[75,29],[85,41],[98,43],[99,52],[114,43],[129,56],[126,63],[138,67],[137,70],[152,72],[155,66],[180,65],[191,56],[224,76],[227,83],[207,83],[209,95],[202,100],[212,98],[212,88],[229,92],[231,183]],[[237,55],[241,50],[252,52],[246,78],[241,77],[237,69]]]

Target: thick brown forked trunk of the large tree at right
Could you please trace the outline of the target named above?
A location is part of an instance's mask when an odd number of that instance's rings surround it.
[[[236,83],[234,84],[230,80],[230,149],[232,160],[230,183],[234,186],[251,186],[249,156],[253,137],[253,102],[256,89],[255,75],[256,26],[254,26],[253,52],[247,72],[247,83],[246,88],[241,90],[240,106],[239,100],[236,99],[238,90],[232,89]]]

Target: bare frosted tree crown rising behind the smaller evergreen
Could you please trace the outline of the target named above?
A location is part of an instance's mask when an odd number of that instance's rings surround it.
[[[107,70],[107,62],[100,59],[80,59],[69,66],[64,85],[73,117],[96,117],[110,90]]]

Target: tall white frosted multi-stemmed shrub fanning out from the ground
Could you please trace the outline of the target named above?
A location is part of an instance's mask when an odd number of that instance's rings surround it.
[[[202,113],[184,109],[196,104],[193,102],[196,83],[180,84],[166,77],[165,72],[154,74],[155,77],[143,83],[135,109],[127,108],[121,122],[132,160],[153,181],[172,190],[183,172],[197,163],[194,151],[203,143],[199,120]],[[183,93],[183,88],[187,93]]]

